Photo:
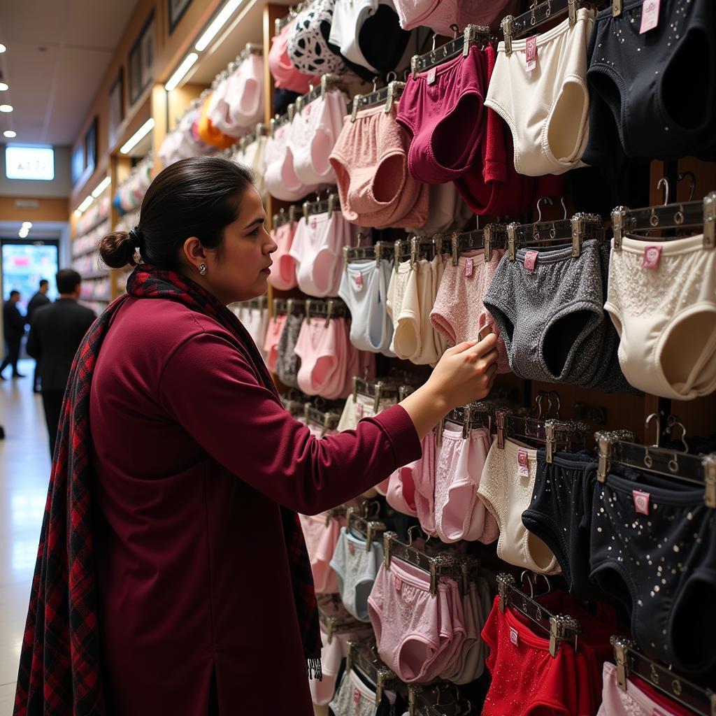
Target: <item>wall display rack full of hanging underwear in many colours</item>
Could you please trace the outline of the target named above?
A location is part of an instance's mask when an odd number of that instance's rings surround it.
[[[272,6],[160,150],[253,168],[231,308],[316,439],[498,337],[420,459],[299,516],[316,716],[716,716],[716,6],[655,5]]]

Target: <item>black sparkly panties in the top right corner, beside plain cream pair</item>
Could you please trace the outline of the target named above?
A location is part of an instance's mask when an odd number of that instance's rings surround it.
[[[584,161],[614,162],[615,150],[627,157],[714,160],[714,4],[662,0],[658,24],[648,32],[641,32],[642,11],[642,2],[628,0],[619,17],[611,11],[596,17],[586,75],[594,124]],[[701,89],[689,91],[684,78],[696,68]]]

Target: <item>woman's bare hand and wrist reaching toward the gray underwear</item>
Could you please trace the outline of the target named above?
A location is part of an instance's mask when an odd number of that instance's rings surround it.
[[[490,333],[448,349],[425,385],[400,403],[420,440],[453,408],[488,395],[497,372],[496,344],[497,336]]]

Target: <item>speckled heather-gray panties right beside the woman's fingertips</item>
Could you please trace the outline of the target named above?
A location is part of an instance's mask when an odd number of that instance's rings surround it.
[[[609,247],[585,241],[577,257],[571,245],[533,250],[533,271],[524,266],[526,249],[517,251],[515,261],[505,253],[484,299],[513,372],[550,383],[627,390],[618,362],[615,372],[616,332],[603,309]]]

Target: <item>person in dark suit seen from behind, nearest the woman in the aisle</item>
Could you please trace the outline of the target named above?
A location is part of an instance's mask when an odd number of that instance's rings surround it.
[[[72,359],[96,318],[94,311],[77,303],[81,284],[82,277],[77,271],[58,271],[59,299],[35,311],[27,337],[27,353],[37,361],[39,368],[50,457],[54,453],[59,413]]]

